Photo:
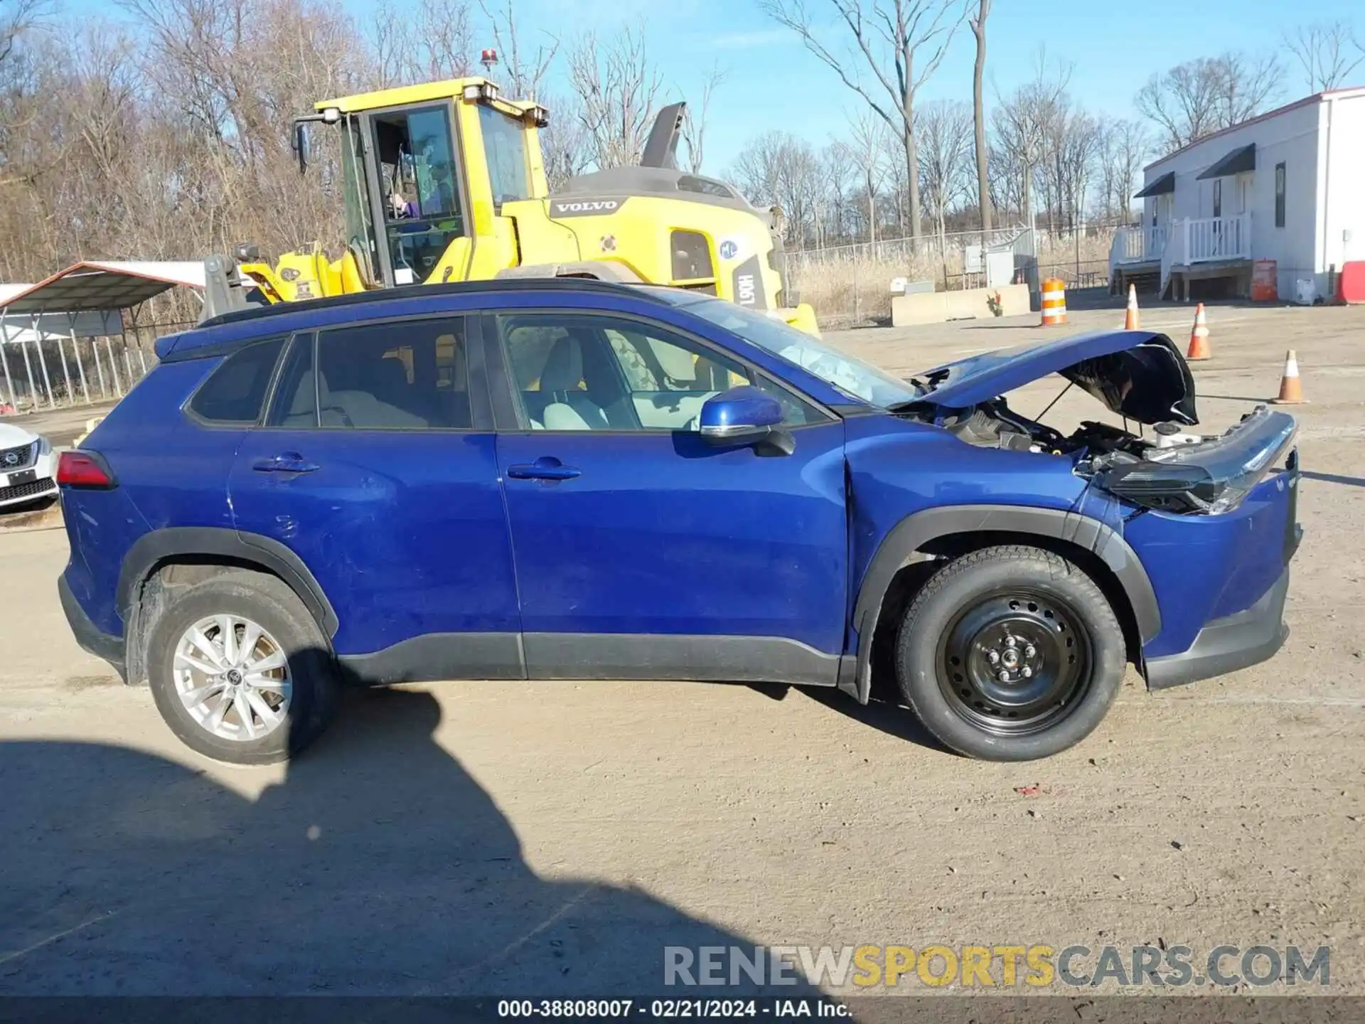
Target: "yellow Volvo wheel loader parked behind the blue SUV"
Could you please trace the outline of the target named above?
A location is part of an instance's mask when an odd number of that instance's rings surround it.
[[[206,265],[205,317],[251,302],[370,288],[579,276],[695,288],[819,333],[786,287],[781,213],[676,167],[682,104],[661,111],[640,167],[569,179],[551,194],[541,157],[547,112],[486,78],[362,93],[295,122],[340,132],[347,248],[314,243],[276,266],[250,246]]]

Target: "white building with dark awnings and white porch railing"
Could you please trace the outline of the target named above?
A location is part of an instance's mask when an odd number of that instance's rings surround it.
[[[1192,142],[1148,164],[1134,198],[1143,224],[1114,239],[1112,291],[1189,298],[1203,281],[1196,292],[1248,296],[1254,262],[1274,261],[1279,299],[1330,298],[1331,273],[1365,259],[1365,87]]]

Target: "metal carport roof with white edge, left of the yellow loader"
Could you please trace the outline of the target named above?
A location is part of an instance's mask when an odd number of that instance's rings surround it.
[[[126,310],[186,285],[203,291],[203,264],[94,261],[59,270],[0,303],[4,314]]]

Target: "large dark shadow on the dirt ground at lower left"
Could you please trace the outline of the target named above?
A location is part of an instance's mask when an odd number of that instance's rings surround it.
[[[666,945],[752,941],[643,892],[536,875],[433,740],[440,715],[422,692],[349,695],[255,801],[127,748],[0,744],[0,993],[760,991],[665,989]]]

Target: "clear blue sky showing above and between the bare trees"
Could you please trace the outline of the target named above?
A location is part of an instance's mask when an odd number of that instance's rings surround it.
[[[498,0],[494,0],[497,3]],[[823,145],[846,126],[861,102],[838,76],[805,52],[794,33],[771,22],[755,0],[513,0],[519,22],[564,38],[592,27],[601,38],[643,20],[650,56],[667,83],[667,98],[699,98],[704,72],[719,64],[706,142],[706,169],[722,172],[755,134],[782,128]],[[369,0],[343,0],[362,20]],[[827,0],[807,0],[820,14]],[[68,0],[68,10],[98,10],[98,0]],[[471,4],[478,11],[476,3]],[[975,7],[975,3],[973,3]],[[1280,34],[1305,22],[1353,22],[1365,37],[1362,0],[995,0],[988,22],[988,87],[1006,93],[1031,74],[1040,45],[1070,61],[1072,93],[1089,109],[1134,116],[1133,94],[1153,71],[1224,49],[1283,49]],[[493,45],[482,18],[476,45]],[[483,41],[483,35],[487,41]],[[833,38],[842,37],[834,34]],[[1289,101],[1308,90],[1289,55]],[[947,59],[923,90],[930,98],[972,98],[972,34],[964,25]],[[560,61],[562,66],[562,61]],[[1353,83],[1365,83],[1365,66]],[[553,116],[553,111],[551,111]]]

